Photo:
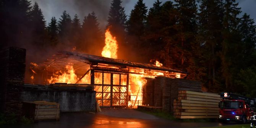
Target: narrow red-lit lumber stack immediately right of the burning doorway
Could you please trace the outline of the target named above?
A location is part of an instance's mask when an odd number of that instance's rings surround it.
[[[143,100],[145,101],[146,105],[154,106],[154,84],[155,79],[154,78],[145,78],[147,80],[146,88],[143,90],[143,92],[146,92],[146,97],[144,97],[143,93]]]

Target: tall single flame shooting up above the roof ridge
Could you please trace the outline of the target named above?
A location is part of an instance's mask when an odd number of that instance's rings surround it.
[[[105,32],[105,46],[101,52],[102,57],[117,58],[118,44],[116,37],[113,37],[109,28]]]

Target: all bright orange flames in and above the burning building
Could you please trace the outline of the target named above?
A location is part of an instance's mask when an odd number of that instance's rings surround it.
[[[118,42],[116,40],[116,37],[113,37],[110,33],[109,28],[105,31],[105,46],[102,49],[102,56],[108,57],[108,58],[118,58],[117,56],[117,50],[118,50]],[[156,61],[154,63],[156,66],[163,66],[162,63],[159,61]],[[108,65],[104,65],[106,67],[109,67]],[[73,68],[73,63],[69,63],[66,65],[66,71],[57,71],[56,73],[51,76],[50,79],[47,79],[49,83],[77,83],[79,80],[79,77],[76,75],[75,70]],[[117,68],[117,67],[110,67],[110,68]],[[88,69],[89,70],[89,67]],[[143,86],[146,84],[145,77],[149,78],[155,78],[155,76],[164,76],[164,72],[162,71],[153,71],[153,70],[144,70],[144,69],[128,69],[129,72],[134,72],[134,74],[129,74],[129,79],[125,75],[121,75],[121,79],[119,81],[120,76],[117,74],[113,75],[113,84],[119,85],[121,82],[121,85],[126,85],[126,81],[129,81],[129,95],[130,95],[130,101],[128,102],[129,107],[136,108],[137,105],[142,105],[142,98],[143,98]],[[79,83],[83,84],[89,84],[91,76],[88,73],[84,76]],[[125,77],[124,77],[125,76]],[[176,76],[177,78],[180,76]],[[110,84],[110,73],[104,73],[104,84]],[[102,73],[95,73],[94,76],[94,83],[95,84],[102,84]],[[101,92],[102,88],[99,87],[95,90],[96,92]],[[113,89],[113,92],[116,91]],[[124,92],[126,90],[123,90]],[[104,92],[110,92],[110,87],[105,88]],[[107,94],[110,97],[110,93]],[[101,99],[101,95],[96,96],[96,98]],[[113,103],[113,105],[118,105],[118,103]]]

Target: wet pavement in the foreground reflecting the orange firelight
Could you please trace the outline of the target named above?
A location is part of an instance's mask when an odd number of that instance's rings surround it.
[[[61,113],[60,121],[41,121],[30,125],[4,126],[4,128],[198,128],[234,124],[236,123],[175,122],[133,109],[103,109],[101,113]]]

